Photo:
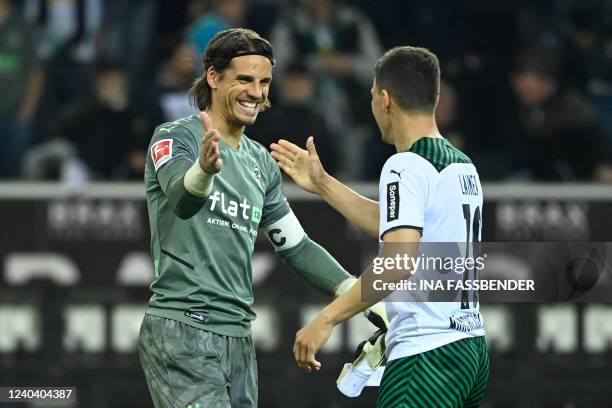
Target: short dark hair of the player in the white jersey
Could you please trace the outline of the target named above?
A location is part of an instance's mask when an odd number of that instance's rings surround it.
[[[440,95],[440,63],[425,48],[396,47],[387,51],[374,67],[378,89],[387,92],[404,110],[433,113]]]

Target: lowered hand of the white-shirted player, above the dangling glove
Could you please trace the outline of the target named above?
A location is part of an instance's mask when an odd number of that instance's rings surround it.
[[[300,368],[306,372],[318,371],[321,368],[321,363],[315,360],[315,355],[329,339],[333,329],[334,325],[325,321],[319,314],[296,333],[293,356]]]

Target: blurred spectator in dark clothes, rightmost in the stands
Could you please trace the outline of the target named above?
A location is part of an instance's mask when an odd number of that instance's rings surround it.
[[[589,179],[609,159],[606,139],[588,101],[558,82],[556,68],[553,55],[532,50],[512,78],[520,166],[536,180]]]

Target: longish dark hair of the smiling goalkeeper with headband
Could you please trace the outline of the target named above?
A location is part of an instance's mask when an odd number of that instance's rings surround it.
[[[200,110],[210,105],[212,96],[211,89],[206,80],[208,68],[213,67],[215,71],[222,73],[235,57],[243,55],[262,55],[274,65],[274,51],[268,40],[261,37],[253,30],[246,28],[232,28],[217,33],[204,53],[204,71],[198,78],[191,90],[189,98],[191,103]],[[269,107],[266,100],[264,108]]]

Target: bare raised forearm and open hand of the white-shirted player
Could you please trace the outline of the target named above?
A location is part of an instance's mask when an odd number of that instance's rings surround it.
[[[369,235],[378,236],[378,202],[351,190],[325,171],[309,137],[304,150],[286,140],[270,146],[279,167],[301,188],[319,195],[351,223]]]

